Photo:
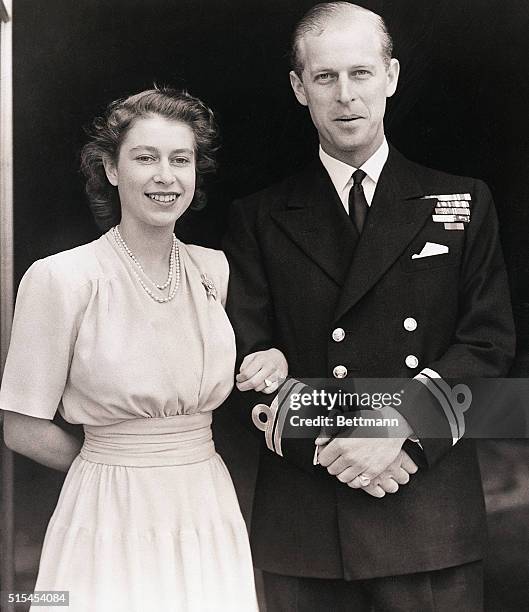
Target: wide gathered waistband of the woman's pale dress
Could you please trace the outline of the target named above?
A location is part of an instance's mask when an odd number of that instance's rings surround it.
[[[80,455],[93,463],[134,467],[186,465],[215,455],[211,413],[85,425]]]

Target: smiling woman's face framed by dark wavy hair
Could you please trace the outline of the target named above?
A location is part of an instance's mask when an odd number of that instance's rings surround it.
[[[185,123],[159,115],[136,119],[119,150],[106,160],[118,188],[122,220],[173,226],[195,193],[195,136]]]

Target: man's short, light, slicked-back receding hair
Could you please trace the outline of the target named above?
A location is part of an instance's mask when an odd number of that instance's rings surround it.
[[[388,32],[387,26],[380,15],[369,9],[363,8],[350,2],[324,2],[313,6],[298,22],[292,35],[290,46],[290,65],[292,70],[301,78],[303,72],[303,58],[299,50],[299,43],[308,33],[319,35],[323,32],[328,22],[337,17],[349,17],[354,14],[367,16],[380,34],[382,59],[389,66],[393,57],[393,40]]]

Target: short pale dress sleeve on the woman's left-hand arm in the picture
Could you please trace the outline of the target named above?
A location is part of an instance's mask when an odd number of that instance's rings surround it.
[[[24,275],[15,305],[0,408],[52,419],[61,401],[77,334],[75,292],[49,260]]]

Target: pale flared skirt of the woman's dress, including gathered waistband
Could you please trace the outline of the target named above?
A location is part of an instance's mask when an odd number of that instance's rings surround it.
[[[35,589],[69,591],[71,612],[257,610],[246,525],[209,412],[85,426]]]

